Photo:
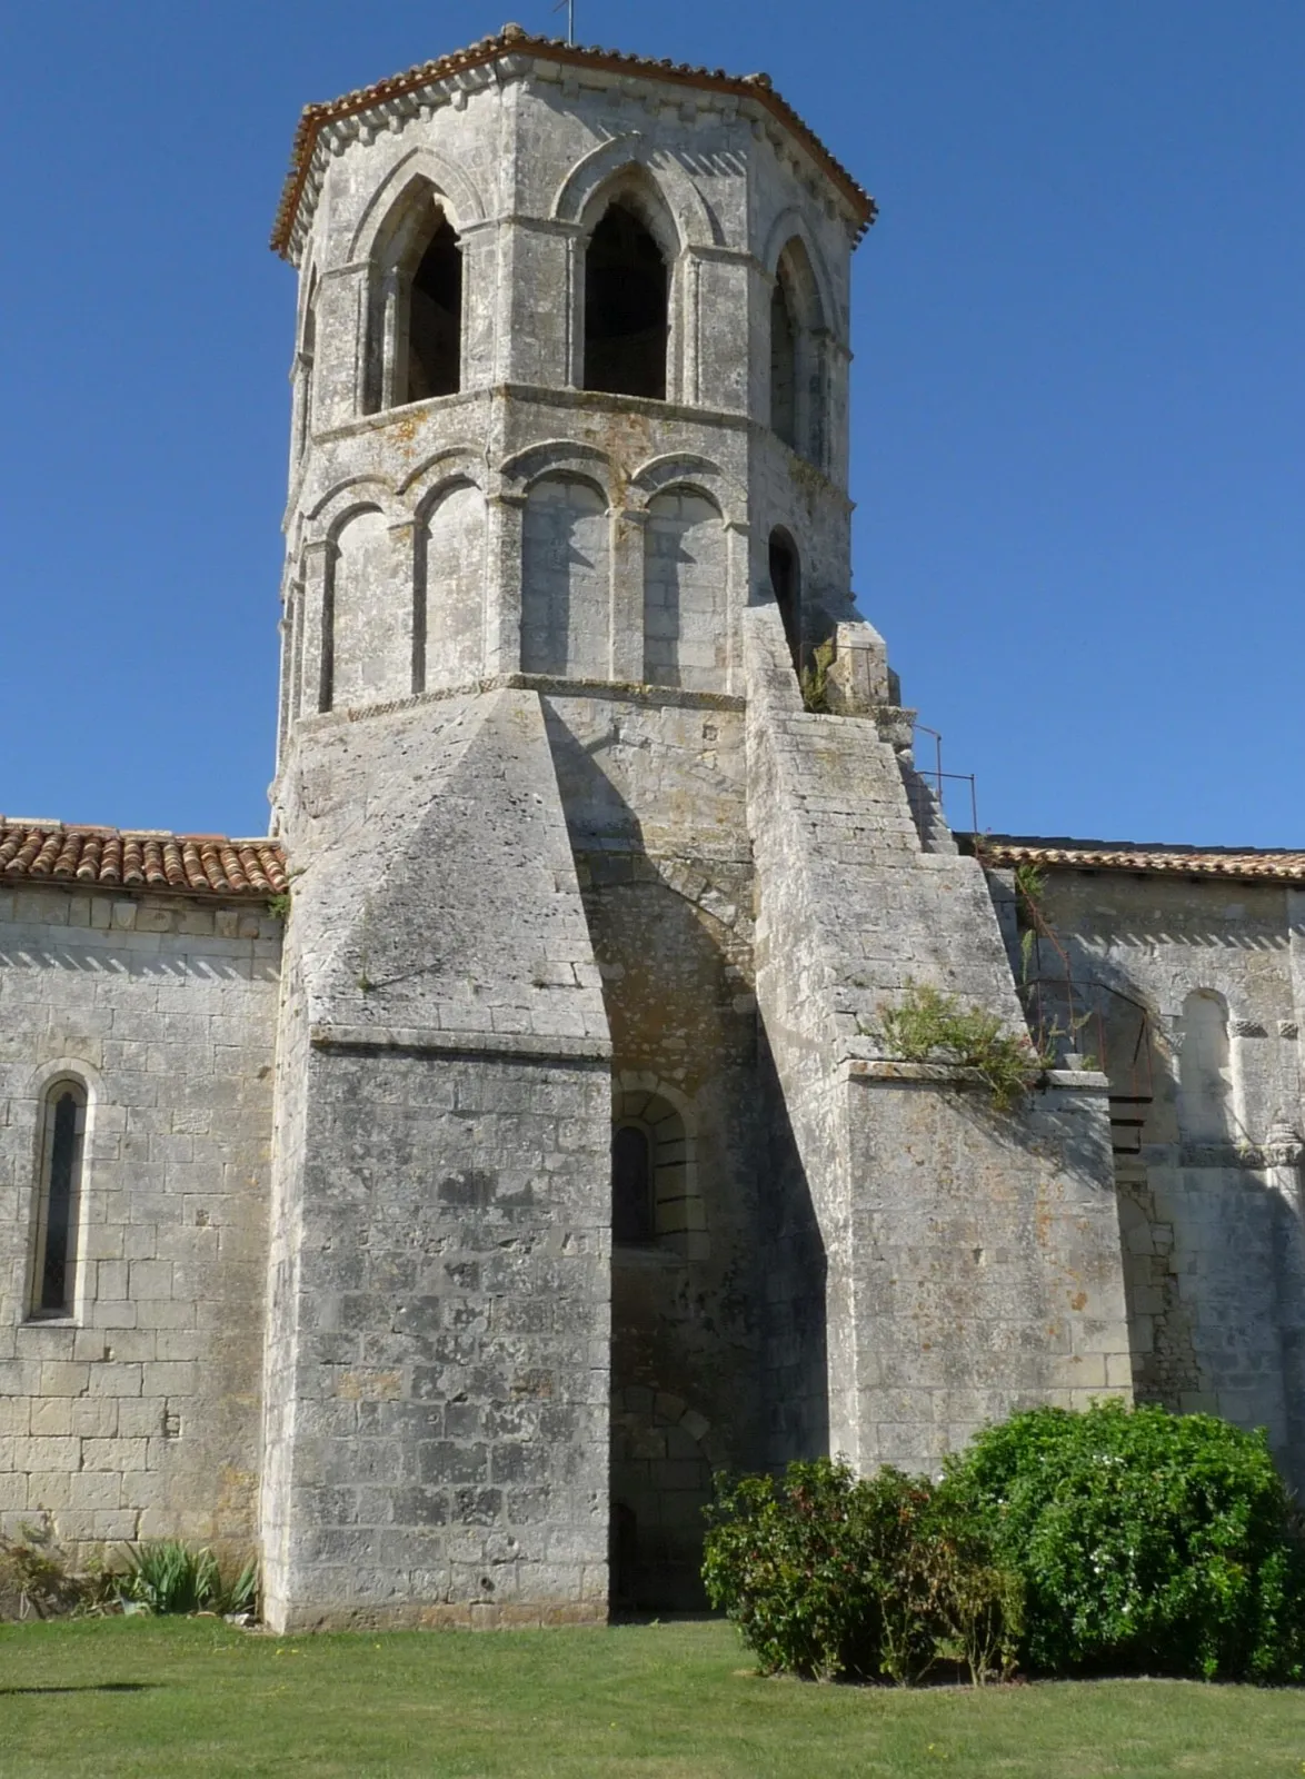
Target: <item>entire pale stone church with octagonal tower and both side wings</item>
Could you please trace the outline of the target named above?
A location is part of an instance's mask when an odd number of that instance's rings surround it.
[[[718,1468],[1040,1402],[1305,1482],[1305,852],[951,833],[873,219],[766,75],[517,25],[304,112],[270,831],[0,820],[0,1528],[558,1624],[695,1605]]]

